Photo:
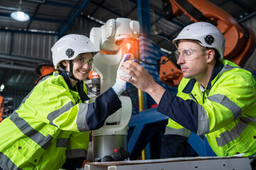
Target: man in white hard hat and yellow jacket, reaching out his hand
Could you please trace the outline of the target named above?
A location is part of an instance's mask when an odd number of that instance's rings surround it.
[[[256,91],[252,74],[223,59],[225,38],[210,23],[192,23],[173,40],[183,79],[176,95],[156,83],[146,70],[130,60],[122,71],[149,94],[169,116],[161,158],[181,157],[191,132],[206,135],[217,156],[252,157],[256,153]]]

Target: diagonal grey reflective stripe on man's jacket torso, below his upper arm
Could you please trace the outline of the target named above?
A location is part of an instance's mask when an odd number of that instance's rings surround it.
[[[247,128],[247,125],[247,123],[240,120],[239,123],[235,125],[235,127],[232,130],[226,130],[225,132],[221,133],[220,137],[216,137],[218,146],[223,147],[224,145],[228,144],[228,142],[237,139],[245,130],[245,128]]]

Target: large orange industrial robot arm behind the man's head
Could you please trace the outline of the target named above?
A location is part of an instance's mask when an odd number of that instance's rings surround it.
[[[255,34],[250,28],[242,26],[242,24],[235,21],[235,18],[222,8],[216,6],[207,0],[169,0],[171,3],[174,15],[181,16],[184,13],[191,21],[205,21],[215,25],[221,33],[223,33],[225,41],[224,58],[238,64],[240,67],[245,65],[247,59],[255,50]],[[164,57],[161,60],[165,60]],[[173,69],[172,69],[173,68]],[[178,86],[176,80],[181,80],[182,72],[179,70],[177,74],[176,65],[174,63],[167,66],[164,64],[160,67],[159,77],[164,83],[171,86]],[[178,77],[169,79],[169,75],[174,74]],[[163,74],[164,73],[164,74]]]

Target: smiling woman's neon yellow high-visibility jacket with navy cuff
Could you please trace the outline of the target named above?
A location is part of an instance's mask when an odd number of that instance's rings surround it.
[[[66,158],[86,157],[89,131],[121,107],[112,88],[82,103],[64,78],[53,72],[42,79],[0,123],[2,169],[60,169]]]

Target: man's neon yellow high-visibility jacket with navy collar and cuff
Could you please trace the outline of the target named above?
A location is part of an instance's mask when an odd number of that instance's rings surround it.
[[[206,135],[217,156],[256,154],[255,79],[233,62],[216,62],[204,92],[183,78],[178,94],[166,91],[157,111],[170,118],[165,135]]]

